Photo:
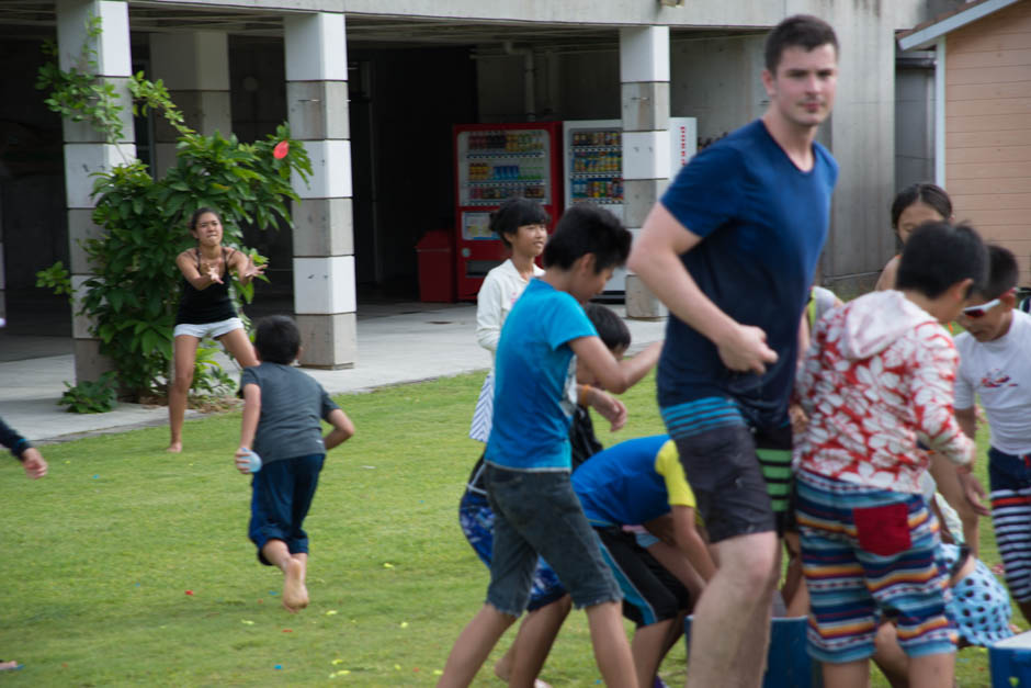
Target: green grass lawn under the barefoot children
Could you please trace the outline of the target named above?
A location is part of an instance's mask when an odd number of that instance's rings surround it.
[[[466,437],[481,377],[338,397],[358,435],[322,471],[306,522],[311,606],[299,614],[280,607],[281,575],[247,540],[238,413],[186,422],[180,455],[163,451],[167,428],[152,428],[45,445],[42,481],[0,463],[0,657],[25,664],[0,683],[431,685],[488,577],[457,523],[481,450]],[[603,443],[662,431],[652,377],[624,401],[624,430],[596,420]],[[956,666],[960,685],[988,685],[984,652],[961,652]],[[681,644],[661,673],[682,684],[683,667]],[[544,678],[598,683],[582,613]],[[476,685],[500,683],[485,668]]]

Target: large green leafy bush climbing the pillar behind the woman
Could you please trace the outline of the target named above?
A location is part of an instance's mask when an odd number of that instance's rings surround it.
[[[90,26],[99,31],[95,20]],[[36,87],[50,90],[45,102],[55,112],[88,121],[109,142],[117,140],[121,106],[109,102],[112,93],[93,76],[95,54],[83,48],[82,61],[88,68],[68,72],[53,63],[44,65]],[[101,353],[116,366],[122,394],[136,401],[165,392],[182,279],[175,257],[193,243],[186,227],[190,215],[204,206],[218,210],[223,243],[247,251],[240,245],[241,225],[292,226],[288,203],[299,198],[291,173],[307,181],[311,165],[285,123],[274,135],[250,144],[217,132],[206,136],[184,124],[160,80],[149,81],[139,72],[129,80],[129,91],[134,113],[152,110],[179,133],[175,165],[161,179],[151,177],[139,160],[95,173],[92,217],[103,234],[83,243],[93,277],[83,283],[75,306],[89,316]],[[280,153],[286,148],[285,155],[273,155],[276,145]],[[265,262],[251,255],[257,263]],[[70,294],[68,271],[60,263],[38,272],[37,285]],[[253,296],[252,283],[241,285],[234,275],[234,286],[238,298],[249,302]],[[199,357],[195,390],[216,393],[227,381],[217,362]]]

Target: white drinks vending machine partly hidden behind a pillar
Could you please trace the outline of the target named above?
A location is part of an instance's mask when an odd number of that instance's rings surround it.
[[[596,203],[623,216],[623,123],[620,120],[563,122],[563,172],[565,207]],[[669,178],[680,171],[698,147],[694,117],[669,119]],[[619,269],[605,284],[604,294],[621,296],[626,271]]]

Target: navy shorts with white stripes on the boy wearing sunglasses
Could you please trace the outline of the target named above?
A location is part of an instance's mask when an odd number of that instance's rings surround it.
[[[1031,454],[988,450],[992,523],[1006,568],[1006,586],[1018,602],[1031,600]]]

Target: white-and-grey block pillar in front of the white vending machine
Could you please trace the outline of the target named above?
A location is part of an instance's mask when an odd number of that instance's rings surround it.
[[[669,183],[669,26],[620,30],[623,101],[623,222],[641,232]],[[626,315],[658,319],[668,311],[636,274],[626,275]]]

